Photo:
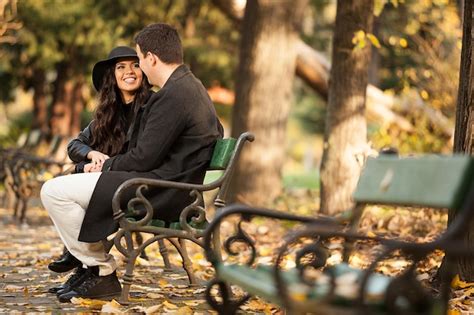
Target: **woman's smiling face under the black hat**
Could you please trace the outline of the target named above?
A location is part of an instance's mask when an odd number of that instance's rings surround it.
[[[132,101],[143,80],[143,72],[138,65],[138,59],[119,59],[115,64],[114,74],[123,100],[126,103]]]

